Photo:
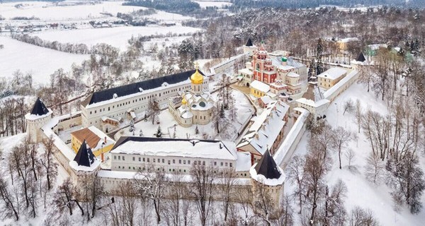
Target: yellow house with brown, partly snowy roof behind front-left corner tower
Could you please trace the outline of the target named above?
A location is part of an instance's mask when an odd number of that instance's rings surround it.
[[[75,153],[78,152],[81,144],[84,142],[91,148],[91,151],[96,157],[103,153],[108,153],[115,144],[112,138],[95,126],[79,129],[71,133],[71,147]]]

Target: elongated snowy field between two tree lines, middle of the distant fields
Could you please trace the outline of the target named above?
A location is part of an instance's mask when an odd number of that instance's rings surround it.
[[[40,37],[42,40],[58,41],[62,43],[82,43],[91,47],[98,43],[111,44],[125,50],[128,47],[128,40],[131,37],[148,36],[148,35],[167,35],[167,34],[183,34],[189,32],[198,32],[201,29],[183,27],[183,26],[148,26],[148,27],[115,27],[115,28],[91,28],[78,30],[47,30],[44,32],[36,32],[33,35]],[[176,40],[180,41],[180,40]]]

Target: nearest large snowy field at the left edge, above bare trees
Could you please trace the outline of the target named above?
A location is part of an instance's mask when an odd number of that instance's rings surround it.
[[[4,45],[0,49],[0,77],[11,78],[13,72],[19,69],[23,73],[32,73],[35,84],[48,83],[50,74],[57,69],[69,71],[72,63],[81,64],[84,59],[89,59],[89,55],[59,52],[10,37],[0,36],[0,44]]]

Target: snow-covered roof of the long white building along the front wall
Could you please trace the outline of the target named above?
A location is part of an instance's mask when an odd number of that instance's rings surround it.
[[[111,153],[129,155],[196,157],[236,160],[236,147],[227,141],[199,141],[188,139],[147,138],[122,136]]]

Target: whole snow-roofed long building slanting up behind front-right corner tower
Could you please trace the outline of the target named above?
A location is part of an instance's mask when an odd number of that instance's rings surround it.
[[[273,154],[283,140],[288,112],[289,105],[280,100],[268,103],[259,116],[251,119],[252,123],[237,145],[237,150],[251,153],[253,162],[258,161],[266,150]]]

